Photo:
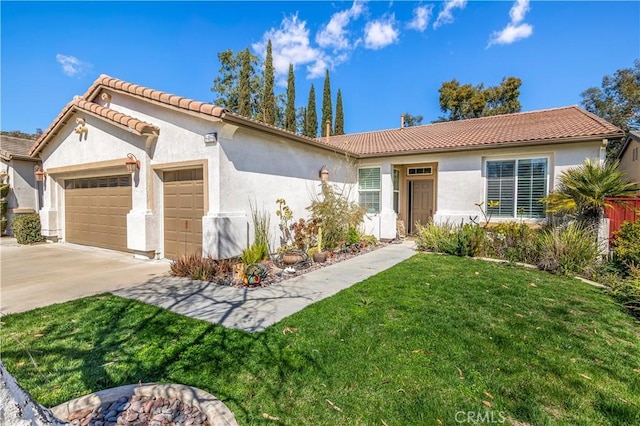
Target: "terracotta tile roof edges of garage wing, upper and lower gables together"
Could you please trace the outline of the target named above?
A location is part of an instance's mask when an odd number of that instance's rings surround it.
[[[132,123],[137,123],[136,125],[140,126],[141,128],[141,131],[139,132],[140,134],[146,134],[145,131],[142,131],[142,128],[145,125],[149,126],[147,128],[148,131],[155,132],[155,134],[159,133],[160,129],[152,124],[145,123],[143,121],[137,120],[135,117],[126,116],[112,109],[102,107],[99,104],[94,103],[93,101],[105,89],[134,96],[148,102],[161,104],[169,108],[182,110],[192,114],[195,113],[200,116],[219,118],[225,122],[243,125],[261,131],[266,131],[268,133],[273,133],[279,136],[284,136],[297,142],[314,145],[322,149],[330,149],[332,151],[339,151],[342,153],[346,152],[340,148],[329,147],[316,139],[309,138],[307,136],[301,136],[288,130],[261,123],[257,120],[243,117],[239,114],[234,114],[225,108],[213,104],[196,101],[178,95],[172,95],[170,93],[150,89],[144,86],[139,86],[137,84],[132,84],[103,74],[96,79],[96,81],[91,85],[91,87],[89,87],[89,89],[82,97],[77,97],[73,101],[69,102],[69,104],[67,104],[65,108],[63,108],[60,114],[58,114],[58,117],[56,117],[56,119],[51,123],[47,130],[45,130],[42,136],[36,141],[36,143],[34,143],[33,147],[31,148],[30,154],[36,155],[38,152],[40,152],[40,150],[47,144],[51,137],[55,136],[59,132],[60,128],[64,124],[66,124],[66,119],[69,117],[69,114],[72,114],[77,109],[82,109],[86,112],[92,112],[95,115],[100,116],[101,118],[110,119],[112,122],[125,126],[131,126]],[[135,129],[138,129],[138,127],[135,127]]]

